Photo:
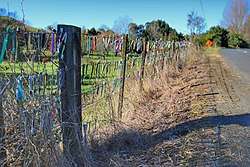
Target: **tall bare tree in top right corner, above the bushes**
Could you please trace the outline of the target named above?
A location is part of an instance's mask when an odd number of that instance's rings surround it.
[[[249,7],[246,0],[230,0],[224,10],[223,24],[233,32],[243,33],[248,12]]]

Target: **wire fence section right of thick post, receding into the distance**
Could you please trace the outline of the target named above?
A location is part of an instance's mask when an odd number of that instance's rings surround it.
[[[190,45],[184,41],[145,41],[143,39],[126,41],[125,36],[117,35],[85,35],[84,39],[83,59],[94,56],[99,60],[95,63],[84,64],[82,67],[83,83],[94,78],[94,81],[92,80],[94,84],[91,83],[88,91],[83,93],[83,120],[88,125],[88,133],[94,133],[98,128],[119,119],[119,113],[122,112],[119,103],[125,96],[123,94],[120,97],[120,93],[124,91],[121,90],[124,86],[123,81],[132,79],[140,82],[146,77],[154,78],[165,66],[171,64],[181,69]],[[124,45],[127,46],[126,49]],[[106,46],[105,49],[103,46]],[[115,56],[113,62],[108,59],[111,53]],[[117,60],[117,57],[120,60]],[[123,75],[124,70],[125,75]]]

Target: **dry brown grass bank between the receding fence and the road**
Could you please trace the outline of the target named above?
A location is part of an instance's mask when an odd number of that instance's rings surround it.
[[[191,151],[190,155],[185,153],[188,149],[181,140],[168,141],[186,133],[169,129],[204,116],[212,105],[204,95],[210,92],[211,84],[207,59],[195,49],[188,55],[182,69],[176,68],[176,62],[163,70],[148,67],[143,91],[138,80],[126,81],[123,118],[95,131],[90,141],[98,166],[154,166],[163,162],[174,166],[185,159],[181,156],[192,157]],[[156,150],[163,146],[173,155],[159,160]],[[173,161],[173,156],[180,157]]]

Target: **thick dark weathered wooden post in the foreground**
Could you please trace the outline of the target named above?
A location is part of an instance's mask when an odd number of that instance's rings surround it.
[[[63,152],[75,165],[82,160],[81,28],[58,25],[59,85],[62,108]],[[61,38],[61,39],[60,39]]]

